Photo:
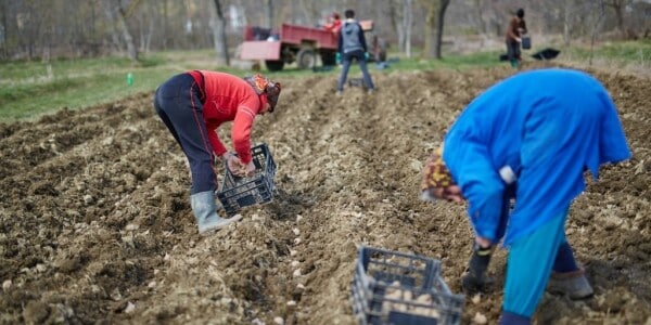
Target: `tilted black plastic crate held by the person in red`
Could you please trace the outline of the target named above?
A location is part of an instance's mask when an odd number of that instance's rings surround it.
[[[258,144],[251,148],[251,154],[255,165],[252,177],[235,176],[228,169],[228,164],[225,164],[224,182],[217,192],[217,198],[228,216],[235,214],[243,207],[273,199],[276,162],[269,147],[265,143]]]

